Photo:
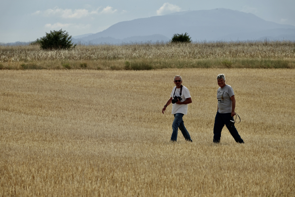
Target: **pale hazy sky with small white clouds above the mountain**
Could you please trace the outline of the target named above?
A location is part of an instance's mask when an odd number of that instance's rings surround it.
[[[0,43],[34,41],[61,28],[72,36],[97,33],[121,21],[215,8],[295,26],[294,0],[0,0]]]

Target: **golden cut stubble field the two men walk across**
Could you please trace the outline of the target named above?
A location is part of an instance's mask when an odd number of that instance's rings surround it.
[[[214,144],[216,76],[245,144]],[[193,102],[171,143],[180,74]],[[294,69],[1,70],[0,196],[294,196]]]

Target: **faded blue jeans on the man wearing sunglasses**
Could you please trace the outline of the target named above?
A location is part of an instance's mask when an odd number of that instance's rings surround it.
[[[186,130],[186,128],[184,126],[184,122],[182,120],[183,115],[184,115],[183,113],[174,114],[174,121],[172,123],[173,132],[172,132],[172,135],[171,135],[171,141],[176,141],[177,140],[178,128],[180,129],[183,137],[187,141],[192,141],[191,136],[189,135],[189,132]]]

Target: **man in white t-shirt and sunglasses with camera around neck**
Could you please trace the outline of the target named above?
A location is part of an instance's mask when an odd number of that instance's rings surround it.
[[[182,120],[183,115],[187,114],[187,106],[189,103],[192,102],[192,100],[191,95],[189,93],[189,89],[181,85],[181,83],[181,76],[176,75],[174,77],[174,84],[176,86],[172,89],[170,99],[167,101],[166,105],[164,105],[162,113],[164,114],[166,107],[170,105],[170,103],[172,102],[172,114],[174,115],[174,121],[172,123],[173,131],[171,135],[171,141],[177,140],[177,133],[179,128],[186,141],[192,142],[191,136],[189,135],[189,132],[186,130],[184,122]]]

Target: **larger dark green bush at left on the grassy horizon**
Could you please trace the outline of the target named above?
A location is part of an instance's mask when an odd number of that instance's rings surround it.
[[[50,33],[46,33],[46,36],[40,38],[40,40],[36,40],[36,43],[40,44],[42,49],[71,49],[76,46],[73,46],[72,36],[69,36],[68,32],[60,29],[59,31],[50,31]]]

